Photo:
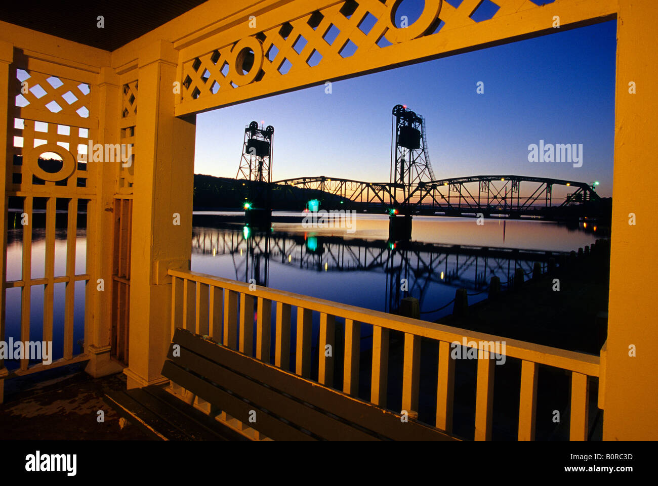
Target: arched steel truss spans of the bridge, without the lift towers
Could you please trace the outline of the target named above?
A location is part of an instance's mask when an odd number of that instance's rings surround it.
[[[363,182],[327,176],[280,180],[274,183],[288,190],[286,197],[320,199],[324,208],[384,210],[407,208],[413,214],[446,216],[536,216],[560,219],[569,207],[584,207],[600,201],[594,187],[585,182],[517,175],[467,176],[417,182],[405,191],[399,184]],[[557,193],[553,189],[557,188]],[[293,193],[294,192],[294,193]],[[300,205],[305,201],[299,201]]]

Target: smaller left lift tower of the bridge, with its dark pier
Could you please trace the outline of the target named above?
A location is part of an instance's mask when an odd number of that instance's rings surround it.
[[[249,181],[245,198],[245,224],[268,226],[272,219],[272,147],[274,127],[259,126],[251,122],[245,128],[245,137],[236,179]]]

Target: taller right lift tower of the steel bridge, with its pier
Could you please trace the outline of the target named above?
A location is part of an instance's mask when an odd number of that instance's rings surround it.
[[[411,201],[413,187],[435,179],[430,164],[425,120],[405,105],[393,107],[391,147],[391,184],[393,207],[389,209],[390,239],[411,238]]]

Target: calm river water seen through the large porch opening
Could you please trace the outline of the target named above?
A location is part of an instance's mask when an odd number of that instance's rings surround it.
[[[273,216],[276,221],[299,213]],[[451,313],[449,305],[437,309],[456,289],[466,288],[474,303],[486,298],[493,276],[504,284],[520,266],[529,278],[534,262],[545,267],[547,252],[577,250],[598,237],[583,224],[487,219],[478,225],[475,218],[415,216],[411,243],[403,244],[388,241],[388,216],[355,218],[349,229],[274,222],[270,231],[257,231],[238,217],[213,228],[199,217],[191,268],[385,312],[394,311],[403,297],[415,297],[422,318],[436,320]]]

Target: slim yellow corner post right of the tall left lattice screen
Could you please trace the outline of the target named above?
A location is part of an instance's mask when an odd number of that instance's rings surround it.
[[[93,143],[120,143],[118,121],[121,112],[121,90],[118,76],[109,67],[101,68],[96,93],[93,97],[98,112],[98,140]],[[93,241],[92,268],[88,269],[91,279],[87,286],[90,293],[86,308],[85,351],[89,363],[85,368],[91,376],[99,377],[120,372],[123,368],[110,359],[112,333],[112,262],[114,226],[114,180],[121,162],[91,162],[99,164],[97,170],[97,199],[93,208],[95,228],[91,231]],[[103,291],[99,291],[99,279],[103,279]]]

